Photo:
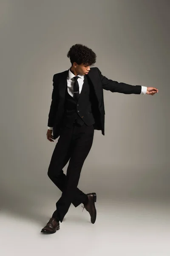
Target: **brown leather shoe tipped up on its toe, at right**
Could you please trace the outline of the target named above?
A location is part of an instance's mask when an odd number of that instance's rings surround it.
[[[94,222],[96,221],[96,207],[94,204],[96,202],[96,193],[88,193],[86,195],[88,196],[88,203],[82,206],[82,211],[85,208],[90,213],[91,223],[94,224]]]

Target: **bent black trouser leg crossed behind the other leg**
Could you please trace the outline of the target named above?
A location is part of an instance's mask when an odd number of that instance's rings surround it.
[[[54,184],[63,192],[66,182],[66,175],[63,172],[64,166],[68,163],[71,157],[71,137],[73,128],[63,128],[63,132],[54,148],[51,157],[51,162],[48,168],[48,177]],[[72,204],[77,207],[87,199],[87,195],[78,188],[76,189],[75,197]]]

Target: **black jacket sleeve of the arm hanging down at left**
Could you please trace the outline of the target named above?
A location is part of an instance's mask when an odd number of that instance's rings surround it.
[[[59,102],[59,93],[58,93],[58,76],[55,74],[53,76],[53,91],[52,91],[52,101],[50,106],[50,111],[48,114],[48,127],[53,127],[55,122],[55,116],[57,113],[58,102]]]

